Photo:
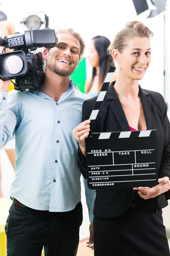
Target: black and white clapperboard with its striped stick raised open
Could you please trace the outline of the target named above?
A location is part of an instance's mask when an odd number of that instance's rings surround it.
[[[93,128],[114,68],[110,67],[91,113]],[[85,139],[88,187],[133,188],[158,184],[156,130],[93,133]]]

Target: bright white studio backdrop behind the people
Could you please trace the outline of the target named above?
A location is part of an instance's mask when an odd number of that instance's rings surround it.
[[[54,2],[54,3],[52,3]],[[29,0],[27,3],[23,0],[1,0],[0,9],[6,13],[7,18],[11,21],[19,32],[26,30],[20,21],[23,20],[25,12],[40,12],[45,11],[49,17],[49,27],[52,29],[71,27],[79,32],[88,46],[90,40],[95,35],[105,35],[111,41],[119,29],[122,29],[130,20],[140,20],[144,22],[154,32],[154,37],[151,40],[152,47],[152,62],[144,79],[140,82],[143,88],[156,90],[164,96],[163,89],[163,13],[160,15],[146,19],[150,11],[137,16],[132,0],[65,0],[52,1],[41,0],[36,2]],[[170,55],[170,3],[167,0],[167,75],[170,71],[168,57]],[[169,16],[169,17],[168,17]],[[85,57],[87,55],[87,48]],[[91,67],[87,67],[87,76],[91,75]],[[167,76],[167,84],[169,79]],[[168,86],[167,86],[168,87]],[[166,100],[169,102],[169,89],[166,90]]]

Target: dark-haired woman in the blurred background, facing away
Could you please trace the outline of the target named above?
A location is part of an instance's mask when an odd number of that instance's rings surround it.
[[[92,38],[89,49],[88,59],[93,67],[92,78],[88,79],[85,83],[85,93],[91,98],[98,95],[105,75],[108,72],[111,58],[107,54],[107,49],[110,41],[105,36],[97,35]]]

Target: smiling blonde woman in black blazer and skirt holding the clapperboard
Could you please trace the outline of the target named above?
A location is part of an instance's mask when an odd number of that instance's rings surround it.
[[[170,256],[162,210],[170,199],[170,122],[161,94],[143,90],[139,80],[151,61],[151,32],[138,21],[120,30],[109,51],[118,66],[93,132],[156,129],[158,185],[152,188],[96,190],[95,256]],[[73,130],[79,143],[78,164],[84,177],[85,138],[96,97],[84,102],[82,123]]]

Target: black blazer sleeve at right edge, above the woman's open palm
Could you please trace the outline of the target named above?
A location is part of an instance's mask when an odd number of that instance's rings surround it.
[[[167,105],[164,98],[161,96],[163,105],[163,128],[164,128],[164,149],[161,158],[160,165],[160,178],[169,177],[170,178],[170,122],[167,117]],[[170,199],[170,190],[164,193],[165,199]]]

